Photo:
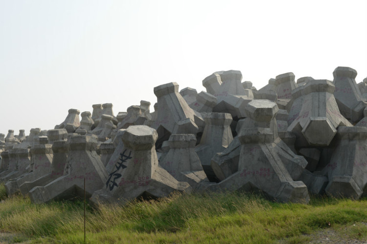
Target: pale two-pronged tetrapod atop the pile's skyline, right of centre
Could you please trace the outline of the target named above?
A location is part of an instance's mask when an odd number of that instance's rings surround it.
[[[243,108],[253,95],[243,88],[241,80],[242,74],[237,70],[215,72],[203,80],[206,92],[217,98],[213,112],[230,113],[233,118],[246,117]]]

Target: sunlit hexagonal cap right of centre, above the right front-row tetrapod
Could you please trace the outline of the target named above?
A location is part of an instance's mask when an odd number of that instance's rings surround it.
[[[279,109],[275,102],[258,99],[247,103],[245,110],[254,121],[271,121]]]

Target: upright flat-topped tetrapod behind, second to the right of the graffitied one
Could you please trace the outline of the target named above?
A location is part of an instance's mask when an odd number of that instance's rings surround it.
[[[226,149],[233,140],[230,129],[232,116],[229,113],[205,113],[204,118],[206,126],[195,151],[199,156],[207,177],[210,181],[216,181],[214,171],[211,168],[211,159],[216,153]]]

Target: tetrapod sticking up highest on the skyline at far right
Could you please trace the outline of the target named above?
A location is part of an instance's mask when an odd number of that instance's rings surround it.
[[[349,67],[337,67],[333,75],[334,97],[340,113],[352,122],[360,121],[363,118],[363,110],[367,103],[362,101],[361,91],[355,81],[357,71]]]

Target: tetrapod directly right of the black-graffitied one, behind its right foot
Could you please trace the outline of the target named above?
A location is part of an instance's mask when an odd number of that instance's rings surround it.
[[[196,137],[193,134],[173,134],[168,140],[169,151],[159,162],[177,181],[187,182],[193,189],[209,183],[203,166],[195,152]]]

